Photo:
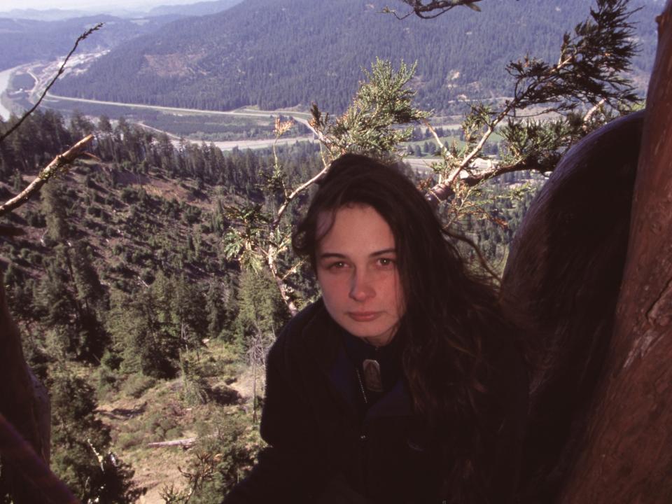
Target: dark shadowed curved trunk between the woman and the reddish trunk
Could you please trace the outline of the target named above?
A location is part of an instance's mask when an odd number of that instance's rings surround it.
[[[612,337],[643,113],[593,132],[561,160],[512,243],[501,295],[536,351],[520,498],[555,502]]]

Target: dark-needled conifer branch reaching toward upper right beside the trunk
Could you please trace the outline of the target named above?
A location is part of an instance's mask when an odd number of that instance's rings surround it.
[[[421,0],[402,0],[406,3],[423,3]],[[423,4],[437,4],[430,2]],[[629,69],[630,59],[636,52],[632,40],[633,26],[628,22],[633,11],[627,9],[628,0],[597,0],[597,8],[591,9],[590,18],[574,29],[573,36],[566,33],[560,49],[560,57],[555,64],[526,56],[517,62],[510,62],[507,71],[515,78],[513,98],[507,100],[499,111],[491,111],[488,106],[472,106],[466,116],[463,130],[478,131],[479,140],[472,144],[468,140],[468,150],[460,160],[449,156],[442,148],[446,178],[428,190],[427,199],[439,204],[454,194],[455,183],[475,185],[500,174],[521,169],[552,169],[552,161],[574,141],[587,134],[594,114],[606,104],[636,102],[630,81],[622,76]],[[434,9],[439,8],[436,5]],[[539,122],[521,123],[519,111],[531,106],[543,106],[544,113],[568,113],[579,106],[590,106],[581,120],[580,127],[567,120],[548,126]],[[538,116],[539,113],[531,115]],[[507,148],[514,151],[506,162],[491,169],[460,179],[464,169],[482,152],[486,141],[496,128],[502,127]],[[482,131],[483,127],[485,130]],[[549,134],[552,133],[552,134]],[[442,144],[440,144],[442,145]]]

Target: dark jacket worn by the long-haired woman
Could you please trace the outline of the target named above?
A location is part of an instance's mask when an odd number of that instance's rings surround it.
[[[358,377],[341,331],[318,301],[281,332],[268,356],[261,419],[269,447],[226,504],[442,502],[442,467],[405,379],[360,421]],[[493,504],[512,502],[527,399],[521,358],[512,344],[500,353],[493,383],[503,407],[489,448]]]

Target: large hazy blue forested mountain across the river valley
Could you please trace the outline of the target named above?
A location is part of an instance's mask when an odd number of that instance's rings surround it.
[[[376,57],[418,61],[414,85],[426,108],[510,93],[505,65],[526,53],[554,59],[564,31],[587,18],[587,0],[490,0],[435,20],[399,21],[389,0],[246,0],[223,13],[180,20],[120,45],[56,92],[197,109],[309,106],[342,111]],[[633,7],[640,3],[633,2]],[[399,3],[398,8],[403,6]],[[656,6],[633,16],[646,78]]]

